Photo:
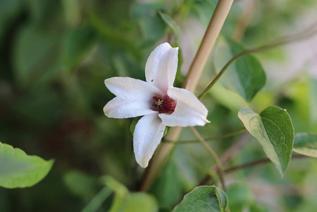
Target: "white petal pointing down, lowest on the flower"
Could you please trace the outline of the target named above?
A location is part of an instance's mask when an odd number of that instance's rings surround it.
[[[142,168],[149,164],[156,147],[162,140],[165,124],[157,113],[143,116],[135,126],[133,149],[135,159]]]

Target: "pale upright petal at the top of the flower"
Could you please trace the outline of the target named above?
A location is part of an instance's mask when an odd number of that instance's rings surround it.
[[[173,86],[178,63],[178,47],[164,43],[156,47],[145,65],[146,82],[159,88],[163,94]]]

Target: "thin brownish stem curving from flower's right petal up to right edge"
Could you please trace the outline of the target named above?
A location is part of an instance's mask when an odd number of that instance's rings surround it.
[[[310,37],[312,35],[314,35],[317,32],[317,23],[312,24],[309,28],[307,28],[306,30],[294,34],[294,35],[290,35],[290,36],[286,36],[284,38],[280,38],[277,39],[269,44],[263,45],[263,46],[259,46],[256,47],[254,49],[248,49],[248,50],[244,50],[241,51],[240,53],[238,53],[237,55],[235,55],[233,58],[231,58],[226,65],[223,66],[223,68],[220,70],[220,72],[216,75],[216,77],[210,82],[210,84],[205,88],[205,90],[198,96],[198,99],[202,99],[210,90],[210,88],[217,82],[217,80],[221,77],[221,75],[223,75],[223,73],[227,70],[227,68],[238,58],[242,57],[243,55],[249,54],[249,53],[255,53],[255,52],[259,52],[259,51],[265,51],[268,50],[270,48],[279,46],[279,45],[283,45],[283,44],[287,44],[290,43],[292,41],[299,41],[303,38],[307,38]]]

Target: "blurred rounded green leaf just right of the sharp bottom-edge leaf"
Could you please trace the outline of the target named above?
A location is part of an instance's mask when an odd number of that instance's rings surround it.
[[[249,207],[253,201],[253,194],[250,189],[243,184],[231,184],[226,191],[228,195],[231,212],[241,212]]]

